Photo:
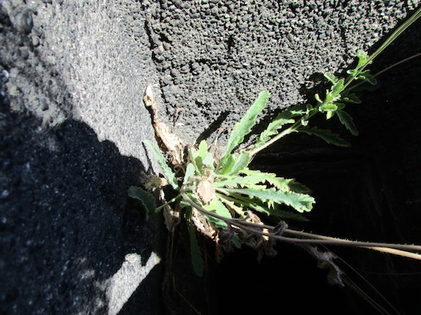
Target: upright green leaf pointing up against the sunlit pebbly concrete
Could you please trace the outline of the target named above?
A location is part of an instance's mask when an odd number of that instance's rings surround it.
[[[231,155],[232,151],[236,146],[244,141],[244,137],[251,131],[251,128],[255,125],[255,120],[260,111],[266,106],[267,99],[269,98],[269,92],[262,91],[259,93],[258,99],[255,100],[254,104],[248,109],[246,114],[241,118],[239,123],[234,125],[231,136],[229,137],[227,148],[225,153],[222,155],[220,165],[224,165],[225,160]],[[219,168],[219,167],[218,167]]]

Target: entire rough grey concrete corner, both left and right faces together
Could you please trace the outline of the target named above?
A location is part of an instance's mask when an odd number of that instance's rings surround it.
[[[126,198],[158,171],[142,148],[154,139],[147,83],[186,142],[219,127],[226,138],[260,90],[265,115],[304,101],[320,73],[346,69],[418,5],[0,3],[2,314],[163,312],[163,225]]]

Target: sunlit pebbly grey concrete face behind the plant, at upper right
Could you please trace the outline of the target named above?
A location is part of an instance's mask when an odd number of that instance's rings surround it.
[[[189,142],[225,113],[218,127],[230,130],[260,90],[271,93],[265,114],[306,102],[305,91],[321,73],[346,69],[356,50],[368,50],[410,6],[403,1],[146,3],[163,113]]]

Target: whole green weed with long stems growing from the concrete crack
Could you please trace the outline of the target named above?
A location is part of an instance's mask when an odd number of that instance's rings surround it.
[[[359,51],[356,67],[347,71],[347,78],[325,73],[324,76],[331,86],[324,95],[315,94],[315,104],[300,104],[284,110],[267,125],[266,130],[256,138],[250,148],[236,150],[243,143],[244,137],[250,133],[258,114],[267,104],[267,91],[260,92],[245,116],[234,125],[225,152],[221,156],[215,155],[206,141],[201,141],[197,148],[190,148],[187,158],[184,158],[180,145],[171,144],[166,128],[160,122],[156,122],[156,134],[161,137],[166,149],[173,156],[173,165],[170,166],[171,163],[167,162],[150,141],[145,141],[165,177],[165,181],[156,178],[149,181],[145,188],[158,187],[164,204],[156,208],[154,197],[139,187],[129,188],[128,195],[140,200],[149,212],[163,209],[167,228],[171,232],[181,218],[187,222],[192,265],[199,276],[203,274],[203,259],[196,239],[196,230],[214,239],[218,248],[223,251],[232,251],[234,247],[240,248],[242,244],[246,244],[255,248],[259,255],[272,255],[276,253],[273,249],[274,241],[306,244],[309,253],[328,265],[330,280],[339,285],[343,283],[340,269],[333,262],[335,256],[326,255],[328,252],[322,253],[311,245],[359,246],[421,259],[421,255],[414,253],[421,251],[421,246],[349,241],[288,229],[285,220],[306,220],[303,214],[312,210],[315,200],[309,195],[309,188],[294,179],[285,179],[248,168],[254,155],[293,132],[314,135],[336,146],[349,146],[338,134],[312,126],[311,118],[318,113],[325,115],[327,120],[338,117],[340,123],[351,134],[358,135],[352,117],[345,111],[347,104],[361,102],[356,94],[351,92],[351,84],[359,80],[375,85],[376,80],[366,67],[387,48],[387,45],[420,18],[420,15],[421,9],[418,9],[373,55],[369,56],[366,52]],[[153,109],[152,94],[148,90],[146,97],[145,103],[149,102],[148,106],[152,106]],[[174,141],[174,135],[171,134],[171,137]],[[154,186],[154,183],[158,185]],[[175,197],[169,202],[165,201],[161,189],[164,186],[171,186],[175,191]],[[265,221],[269,216],[277,218],[279,223],[276,226],[266,225]]]

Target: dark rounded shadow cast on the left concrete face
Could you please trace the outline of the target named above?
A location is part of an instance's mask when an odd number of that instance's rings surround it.
[[[127,203],[145,167],[85,123],[40,126],[1,108],[0,313],[106,314],[107,279],[125,255],[145,265],[158,248],[156,221]],[[140,291],[158,294],[157,278]],[[135,309],[159,304],[156,295]]]

